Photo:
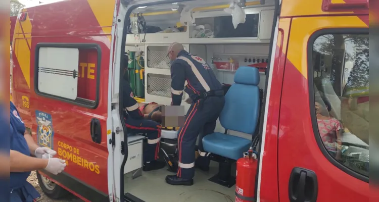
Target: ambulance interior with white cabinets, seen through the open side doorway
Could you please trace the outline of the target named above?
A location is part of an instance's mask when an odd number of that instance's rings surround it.
[[[129,60],[129,82],[135,99],[138,102],[170,105],[171,77],[167,48],[172,42],[183,44],[187,52],[205,59],[223,84],[225,92],[236,81],[234,75],[239,67],[257,68],[256,77],[251,76],[259,79],[253,79],[255,81],[250,85],[258,86],[259,90],[252,96],[263,99],[265,70],[269,61],[269,43],[274,22],[274,1],[241,2],[242,4],[235,5],[230,10],[233,17],[227,9],[230,1],[189,1],[135,9],[130,17],[131,25],[128,28],[125,46],[125,54]],[[183,94],[181,103],[185,112],[189,108],[184,102],[187,96]],[[259,128],[259,115],[249,117],[255,114],[250,112],[256,111],[256,114],[260,114],[261,104],[254,107],[254,104],[250,105],[249,98],[244,99],[243,93],[238,96],[233,99],[236,102],[234,105],[239,106],[236,108],[238,112],[234,112],[231,117],[244,114],[242,117],[245,119],[256,120],[257,124],[248,127],[254,132],[247,134],[224,128],[220,121],[217,121],[215,132],[238,136],[250,146],[253,138],[257,137],[255,134]],[[175,156],[177,129],[167,127],[162,130],[162,160],[167,156]],[[128,134],[129,157],[141,151],[143,143],[139,146],[135,144],[138,141],[143,142],[141,138],[144,138],[143,134]],[[235,160],[243,157],[242,152],[238,150],[239,146],[235,146],[235,149],[223,151],[229,156],[215,155],[214,152],[208,151],[212,153],[212,160],[217,161],[211,161],[208,172],[196,169],[193,186],[166,184],[166,175],[176,174],[170,172],[168,166],[161,170],[142,172],[141,158],[130,160],[128,157],[124,169],[125,196],[136,196],[144,201],[234,201],[235,184],[229,178],[235,178]],[[230,155],[238,158],[231,158]]]

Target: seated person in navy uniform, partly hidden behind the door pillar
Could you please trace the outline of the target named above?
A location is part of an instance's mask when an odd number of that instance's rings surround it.
[[[126,68],[125,68],[126,69]],[[125,113],[125,126],[128,133],[144,133],[148,137],[148,144],[144,151],[143,171],[158,170],[165,167],[165,162],[157,161],[159,154],[159,145],[161,142],[161,125],[153,120],[147,119],[147,116],[139,110],[138,102],[134,99],[133,91],[127,80],[127,71],[124,71],[122,81],[123,90],[123,109]]]

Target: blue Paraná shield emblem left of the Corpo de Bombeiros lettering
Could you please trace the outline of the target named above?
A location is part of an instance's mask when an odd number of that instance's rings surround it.
[[[37,139],[39,146],[45,146],[53,149],[53,138],[54,138],[54,130],[53,130],[53,121],[52,116],[50,114],[35,111],[36,119],[37,119]]]

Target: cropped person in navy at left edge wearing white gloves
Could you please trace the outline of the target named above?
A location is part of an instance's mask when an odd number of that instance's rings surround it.
[[[55,150],[48,147],[39,147],[33,141],[29,132],[25,130],[24,122],[20,118],[20,114],[12,102],[10,122],[10,201],[32,202],[35,201],[35,199],[40,195],[37,190],[35,190],[35,188],[26,181],[30,175],[30,171],[44,169],[45,171],[57,175],[65,169],[66,161],[58,158],[52,158],[57,154]]]

